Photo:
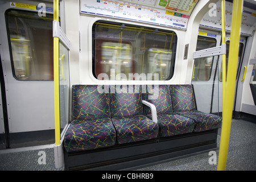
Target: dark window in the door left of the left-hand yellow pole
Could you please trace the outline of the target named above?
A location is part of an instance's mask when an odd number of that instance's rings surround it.
[[[17,80],[53,80],[53,15],[6,12],[13,75]]]

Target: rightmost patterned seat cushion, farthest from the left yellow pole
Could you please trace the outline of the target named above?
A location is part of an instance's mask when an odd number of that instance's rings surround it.
[[[195,121],[194,131],[212,130],[221,126],[222,118],[214,114],[206,114],[197,110],[177,112],[177,114],[193,119]]]

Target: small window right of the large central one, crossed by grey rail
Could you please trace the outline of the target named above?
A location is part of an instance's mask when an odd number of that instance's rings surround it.
[[[198,36],[196,51],[216,47],[216,39]],[[213,56],[195,59],[192,81],[208,81],[212,72]]]

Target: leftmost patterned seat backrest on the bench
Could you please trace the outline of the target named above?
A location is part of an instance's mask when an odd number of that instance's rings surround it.
[[[110,117],[109,93],[99,93],[97,85],[73,85],[72,115],[80,120]]]

